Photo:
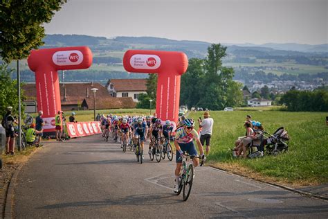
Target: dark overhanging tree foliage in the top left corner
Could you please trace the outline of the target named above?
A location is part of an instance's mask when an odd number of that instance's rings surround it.
[[[0,54],[10,63],[27,58],[32,49],[44,42],[44,26],[51,21],[54,11],[60,10],[66,0],[34,1],[12,0],[0,3]]]

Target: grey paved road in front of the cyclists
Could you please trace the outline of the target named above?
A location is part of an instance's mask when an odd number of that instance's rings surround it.
[[[174,161],[136,163],[101,137],[52,143],[15,186],[15,218],[327,218],[328,202],[230,175],[196,169],[187,202],[173,194]]]

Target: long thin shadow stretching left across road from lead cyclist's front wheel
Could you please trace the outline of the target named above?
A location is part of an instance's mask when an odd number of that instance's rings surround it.
[[[69,207],[86,207],[86,206],[107,206],[107,205],[163,205],[175,204],[183,202],[182,200],[174,200],[174,194],[142,194],[142,195],[129,195],[121,199],[105,199],[100,201],[86,201],[86,202],[66,202],[60,204],[51,204],[37,209],[63,209]]]

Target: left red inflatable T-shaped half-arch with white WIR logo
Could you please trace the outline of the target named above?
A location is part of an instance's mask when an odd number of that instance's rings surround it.
[[[28,67],[35,71],[37,110],[44,112],[44,132],[55,132],[55,114],[62,110],[58,70],[87,69],[92,64],[89,47],[66,47],[31,51]]]

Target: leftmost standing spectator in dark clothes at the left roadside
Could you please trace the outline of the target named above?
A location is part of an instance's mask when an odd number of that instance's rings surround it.
[[[7,107],[7,113],[3,117],[6,119],[7,127],[6,127],[6,155],[14,155],[15,152],[15,130],[14,123],[17,123],[15,118],[11,114],[12,107]]]

